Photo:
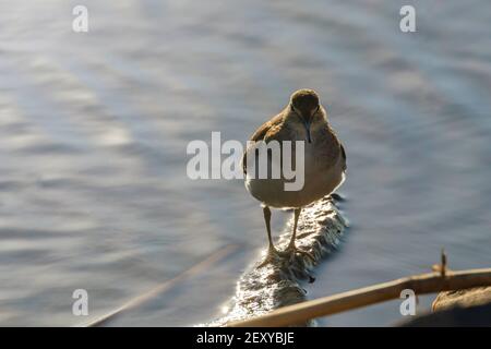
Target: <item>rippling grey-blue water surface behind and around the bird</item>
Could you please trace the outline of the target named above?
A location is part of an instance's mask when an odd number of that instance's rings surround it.
[[[185,147],[244,142],[301,87],[345,144],[351,222],[309,298],[426,273],[441,248],[489,267],[490,22],[488,0],[0,1],[0,325],[80,324],[74,289],[101,315],[237,244],[115,324],[218,315],[263,217],[242,181],[188,179]],[[395,301],[320,324],[400,320]]]

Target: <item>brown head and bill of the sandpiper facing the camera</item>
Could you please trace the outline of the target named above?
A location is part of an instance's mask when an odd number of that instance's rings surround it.
[[[310,127],[314,116],[321,109],[319,95],[315,91],[308,88],[296,91],[290,97],[290,108],[291,111],[300,117],[303,125],[306,127],[307,139],[309,143],[311,143]]]

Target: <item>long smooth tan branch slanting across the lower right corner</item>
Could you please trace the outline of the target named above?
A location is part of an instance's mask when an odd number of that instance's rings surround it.
[[[451,272],[445,268],[445,264],[442,263],[440,272],[406,277],[288,305],[263,316],[229,323],[227,326],[279,327],[302,324],[311,318],[398,299],[405,289],[411,289],[416,294],[424,294],[491,285],[491,268]]]

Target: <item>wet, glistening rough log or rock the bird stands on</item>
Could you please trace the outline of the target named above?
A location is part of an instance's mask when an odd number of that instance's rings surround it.
[[[342,201],[337,194],[325,196],[304,207],[297,230],[297,246],[310,252],[313,261],[304,254],[296,254],[292,260],[278,257],[259,267],[264,255],[252,264],[237,282],[229,311],[217,320],[200,326],[225,326],[230,322],[248,320],[275,309],[302,302],[307,291],[302,280],[314,281],[312,270],[339,244],[340,237],[348,227],[336,206]],[[291,237],[292,219],[288,222],[276,246],[286,249]],[[298,324],[312,326],[314,321]]]

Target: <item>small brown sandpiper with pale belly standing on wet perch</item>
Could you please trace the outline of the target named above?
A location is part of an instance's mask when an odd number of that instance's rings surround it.
[[[251,176],[247,171],[247,158],[253,147],[249,146],[244,152],[242,163],[246,186],[252,196],[262,203],[270,241],[266,260],[261,266],[270,263],[275,256],[291,258],[296,253],[307,254],[313,260],[310,253],[298,249],[295,244],[301,208],[335,191],[343,183],[346,172],[345,149],[327,122],[327,113],[320,104],[319,95],[312,89],[295,92],[288,106],[259,128],[250,139],[253,142],[264,141],[266,144],[273,140],[279,143],[304,141],[304,154],[302,154],[304,184],[299,191],[285,191],[283,177],[283,179],[260,179]],[[274,246],[270,207],[295,209],[294,232],[286,251],[279,252]]]

